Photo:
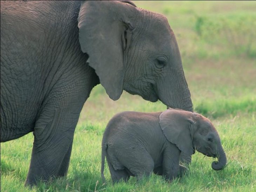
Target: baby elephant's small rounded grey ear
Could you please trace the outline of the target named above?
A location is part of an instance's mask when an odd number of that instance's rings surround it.
[[[189,111],[166,110],[159,117],[159,124],[164,136],[186,155],[194,153],[191,123],[194,123],[193,113]]]

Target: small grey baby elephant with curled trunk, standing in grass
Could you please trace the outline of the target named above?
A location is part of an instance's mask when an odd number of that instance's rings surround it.
[[[108,123],[102,139],[101,176],[105,182],[105,156],[113,182],[140,179],[152,171],[172,180],[179,174],[180,153],[195,150],[217,157],[211,164],[221,170],[227,163],[220,137],[213,124],[200,114],[179,109],[163,112],[126,111]]]

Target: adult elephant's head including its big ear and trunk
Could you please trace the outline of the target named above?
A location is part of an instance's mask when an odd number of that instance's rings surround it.
[[[193,110],[177,41],[163,15],[129,1],[84,1],[78,27],[82,52],[110,98],[126,90]]]

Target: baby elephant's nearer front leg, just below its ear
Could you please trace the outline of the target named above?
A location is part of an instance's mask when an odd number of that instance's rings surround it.
[[[180,150],[176,145],[169,143],[163,152],[163,177],[165,180],[173,180],[178,176],[180,165]]]

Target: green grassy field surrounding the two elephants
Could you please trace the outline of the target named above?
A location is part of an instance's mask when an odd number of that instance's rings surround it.
[[[228,163],[211,169],[213,158],[196,152],[188,175],[171,184],[152,175],[112,185],[100,176],[101,139],[120,111],[163,111],[123,92],[112,101],[97,85],[81,112],[66,178],[23,187],[33,134],[1,143],[1,191],[256,191],[256,1],[134,1],[166,15],[176,34],[194,110],[207,116],[222,140]]]

